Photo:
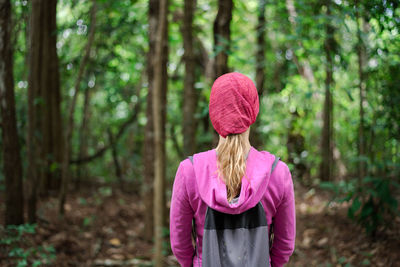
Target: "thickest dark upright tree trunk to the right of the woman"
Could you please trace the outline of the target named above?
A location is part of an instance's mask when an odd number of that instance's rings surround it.
[[[327,13],[330,17],[331,7],[330,0],[327,0],[326,4]],[[320,165],[320,178],[324,181],[332,180],[332,169],[333,169],[333,100],[332,100],[332,84],[333,84],[333,54],[335,51],[335,40],[333,38],[334,28],[329,23],[329,19],[326,23],[326,40],[325,40],[325,55],[326,55],[326,77],[325,77],[325,103],[323,113],[323,129],[322,129],[322,142],[321,142],[321,155],[322,162]]]

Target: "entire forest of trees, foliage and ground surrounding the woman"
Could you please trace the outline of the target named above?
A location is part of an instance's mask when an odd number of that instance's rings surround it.
[[[287,266],[400,266],[397,0],[0,0],[0,265],[179,266],[179,163],[240,72],[290,168]]]

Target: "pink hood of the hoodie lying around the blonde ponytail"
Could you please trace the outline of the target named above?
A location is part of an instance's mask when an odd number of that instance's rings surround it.
[[[193,155],[194,173],[201,199],[212,209],[229,214],[239,214],[254,207],[268,187],[274,160],[274,155],[251,146],[239,199],[235,203],[229,203],[225,182],[217,174],[216,150]]]

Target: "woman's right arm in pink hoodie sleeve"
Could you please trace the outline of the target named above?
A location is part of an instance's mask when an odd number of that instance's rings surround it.
[[[283,266],[294,251],[296,210],[294,188],[289,168],[285,164],[284,193],[274,216],[274,241],[271,248],[273,267]]]

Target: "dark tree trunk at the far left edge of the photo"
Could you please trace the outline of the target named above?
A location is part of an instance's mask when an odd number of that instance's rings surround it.
[[[5,224],[24,223],[22,162],[15,114],[11,3],[0,0],[0,111],[3,172],[5,176]]]

